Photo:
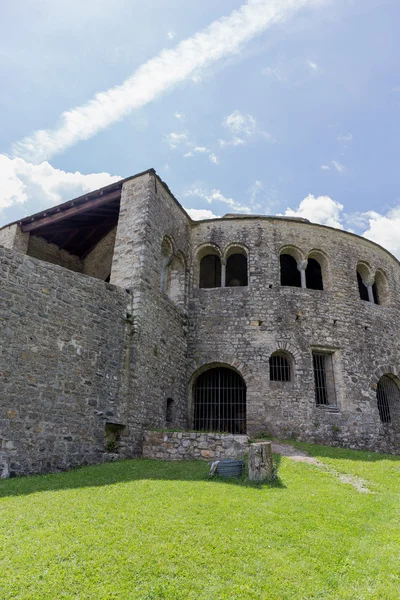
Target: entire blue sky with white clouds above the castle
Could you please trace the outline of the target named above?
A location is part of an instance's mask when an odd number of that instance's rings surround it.
[[[0,225],[154,167],[196,218],[297,214],[400,256],[399,20],[397,0],[3,0]]]

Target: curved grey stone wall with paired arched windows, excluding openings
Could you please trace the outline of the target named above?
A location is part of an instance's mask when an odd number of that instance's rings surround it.
[[[210,242],[248,248],[248,287],[199,289],[196,249]],[[400,268],[368,240],[327,227],[272,218],[198,223],[192,231],[193,290],[189,304],[188,381],[213,365],[231,366],[247,385],[247,432],[352,448],[398,452],[400,423],[379,418],[380,375],[400,368]],[[324,291],[282,287],[279,251],[326,257]],[[383,270],[387,305],[360,300],[358,261]],[[332,352],[337,408],[316,406],[312,350]],[[288,353],[290,382],[270,381],[269,357]],[[189,422],[193,427],[193,423]]]

